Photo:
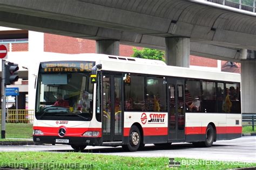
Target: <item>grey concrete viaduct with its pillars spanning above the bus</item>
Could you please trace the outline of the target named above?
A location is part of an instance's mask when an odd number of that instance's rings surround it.
[[[242,112],[256,112],[256,13],[206,1],[0,0],[0,25],[94,39],[97,52],[119,43],[166,51],[167,64],[189,56],[241,62]]]

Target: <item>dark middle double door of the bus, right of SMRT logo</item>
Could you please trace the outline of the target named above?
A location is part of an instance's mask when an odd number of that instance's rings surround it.
[[[168,141],[185,140],[185,89],[184,79],[170,78],[168,80]]]

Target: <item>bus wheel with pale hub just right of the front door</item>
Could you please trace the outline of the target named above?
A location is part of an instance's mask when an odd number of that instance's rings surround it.
[[[123,145],[124,151],[130,151],[134,152],[137,151],[139,146],[140,146],[140,131],[137,126],[132,126],[130,130],[130,136],[129,136],[129,144],[128,145]]]

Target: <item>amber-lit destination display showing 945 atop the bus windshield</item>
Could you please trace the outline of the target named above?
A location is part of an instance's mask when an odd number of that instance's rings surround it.
[[[45,62],[40,64],[40,73],[90,72],[95,62]]]

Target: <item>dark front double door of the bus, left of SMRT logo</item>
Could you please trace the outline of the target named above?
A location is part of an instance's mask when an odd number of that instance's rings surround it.
[[[121,75],[102,75],[102,138],[103,142],[122,140]]]

